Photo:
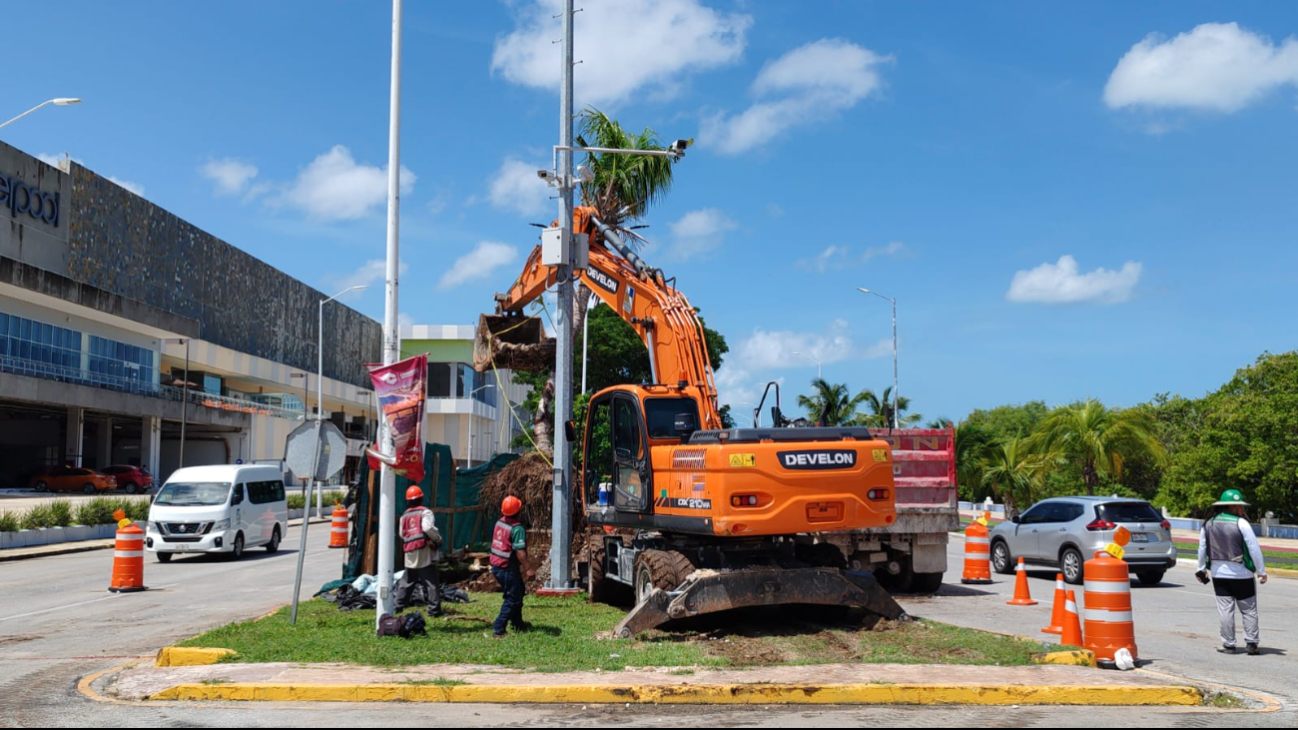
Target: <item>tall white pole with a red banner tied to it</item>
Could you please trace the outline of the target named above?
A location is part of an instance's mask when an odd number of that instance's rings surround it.
[[[383,307],[383,364],[401,357],[401,331],[397,325],[398,213],[401,210],[401,0],[392,0],[392,91],[388,110],[388,258],[387,300]],[[382,409],[382,403],[379,404]],[[387,418],[379,417],[379,444],[391,442]],[[379,479],[379,617],[396,613],[392,595],[392,548],[396,542],[397,475],[384,464]]]

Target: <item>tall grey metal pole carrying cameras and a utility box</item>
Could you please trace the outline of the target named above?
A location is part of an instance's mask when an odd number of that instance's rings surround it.
[[[572,147],[572,0],[563,0],[563,79],[559,84],[559,147]],[[572,261],[572,152],[559,152],[559,235]],[[572,510],[569,505],[572,481],[572,444],[566,425],[572,418],[572,266],[558,268],[558,312],[554,317],[554,504],[550,520],[550,578],[546,588],[566,591],[570,587],[570,555]]]

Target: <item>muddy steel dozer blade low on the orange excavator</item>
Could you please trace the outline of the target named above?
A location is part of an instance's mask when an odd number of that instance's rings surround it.
[[[668,621],[732,608],[787,604],[855,605],[892,621],[907,618],[870,573],[835,568],[696,570],[675,591],[654,588],[613,634],[630,639]]]

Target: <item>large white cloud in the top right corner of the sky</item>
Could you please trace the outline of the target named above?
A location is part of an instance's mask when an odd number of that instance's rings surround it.
[[[1298,40],[1277,45],[1238,23],[1203,23],[1133,45],[1105,84],[1105,103],[1237,112],[1285,84],[1298,84]]]

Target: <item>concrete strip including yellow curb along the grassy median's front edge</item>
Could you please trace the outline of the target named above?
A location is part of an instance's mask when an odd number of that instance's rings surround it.
[[[397,640],[397,639],[393,639]],[[418,640],[418,639],[413,639]],[[110,679],[125,700],[672,704],[1198,705],[1203,692],[1144,672],[1083,666],[822,664],[753,669],[627,668],[528,673],[500,666],[213,664],[136,666]]]

